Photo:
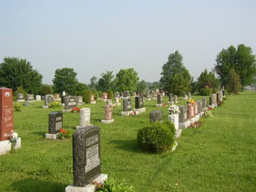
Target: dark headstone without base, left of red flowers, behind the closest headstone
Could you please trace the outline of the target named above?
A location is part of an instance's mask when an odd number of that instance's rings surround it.
[[[63,113],[49,113],[49,134],[59,133],[59,130],[62,129],[62,119]]]

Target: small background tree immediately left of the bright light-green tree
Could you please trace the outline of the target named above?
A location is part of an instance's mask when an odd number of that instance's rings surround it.
[[[96,88],[98,91],[105,92],[106,90],[113,90],[113,71],[106,71],[106,73],[101,73],[101,78],[99,78]]]

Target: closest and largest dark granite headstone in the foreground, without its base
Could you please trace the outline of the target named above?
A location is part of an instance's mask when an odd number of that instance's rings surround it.
[[[101,174],[100,129],[85,126],[73,133],[73,185],[84,187]]]

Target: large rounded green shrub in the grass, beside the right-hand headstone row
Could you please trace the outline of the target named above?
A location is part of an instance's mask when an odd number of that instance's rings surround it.
[[[175,127],[170,121],[154,122],[139,129],[137,141],[147,152],[163,153],[174,145]]]

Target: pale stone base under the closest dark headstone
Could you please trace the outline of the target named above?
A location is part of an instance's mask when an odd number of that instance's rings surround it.
[[[107,174],[101,174],[99,177],[94,179],[94,181],[97,181],[98,183],[103,183],[108,179]],[[95,191],[95,185],[94,184],[88,184],[85,187],[76,187],[73,186],[73,183],[65,188],[65,192],[94,192]]]

